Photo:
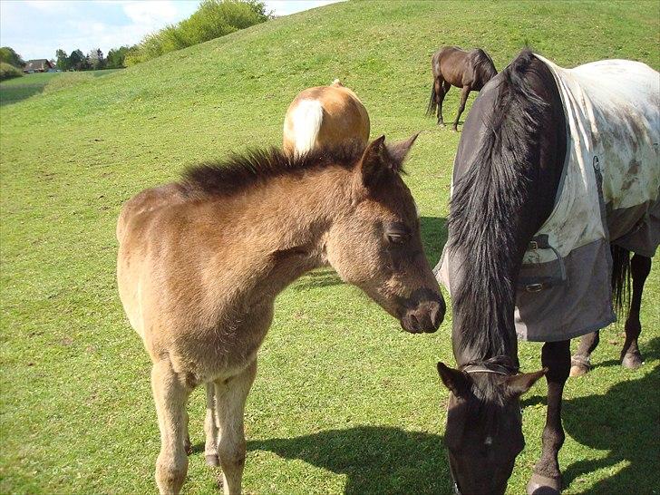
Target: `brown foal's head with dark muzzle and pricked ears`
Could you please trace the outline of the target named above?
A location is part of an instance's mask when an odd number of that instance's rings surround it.
[[[325,239],[327,259],[340,277],[411,333],[437,330],[445,312],[422,249],[415,203],[400,176],[416,137],[388,145],[383,136],[367,146],[352,171],[352,207]]]

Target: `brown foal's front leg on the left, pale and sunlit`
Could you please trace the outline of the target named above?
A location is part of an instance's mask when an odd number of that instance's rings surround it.
[[[160,493],[176,494],[188,472],[186,456],[189,387],[177,375],[169,360],[153,364],[151,390],[160,428],[160,454],[156,461],[156,483]]]

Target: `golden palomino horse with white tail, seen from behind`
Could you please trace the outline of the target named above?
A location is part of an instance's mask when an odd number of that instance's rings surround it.
[[[300,92],[286,111],[283,149],[302,154],[318,146],[369,140],[369,114],[338,79]]]

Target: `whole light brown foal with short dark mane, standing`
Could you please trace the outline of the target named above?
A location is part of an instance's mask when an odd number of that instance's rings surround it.
[[[207,461],[219,461],[226,495],[240,492],[257,350],[277,294],[308,270],[334,267],[408,332],[441,324],[444,301],[400,177],[415,137],[295,158],[253,151],[192,168],[124,205],[117,277],[153,363],[161,493],[178,493],[186,477],[186,403],[201,383],[209,385]]]

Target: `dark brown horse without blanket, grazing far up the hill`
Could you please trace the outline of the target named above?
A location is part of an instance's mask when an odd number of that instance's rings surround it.
[[[438,125],[444,126],[442,101],[451,86],[461,88],[461,105],[453,124],[453,130],[457,131],[461,113],[465,110],[465,102],[468,100],[468,94],[471,91],[480,91],[486,82],[489,82],[498,72],[488,53],[480,48],[466,51],[458,46],[444,46],[433,53],[431,68],[433,85],[426,114],[432,115],[437,108]]]

